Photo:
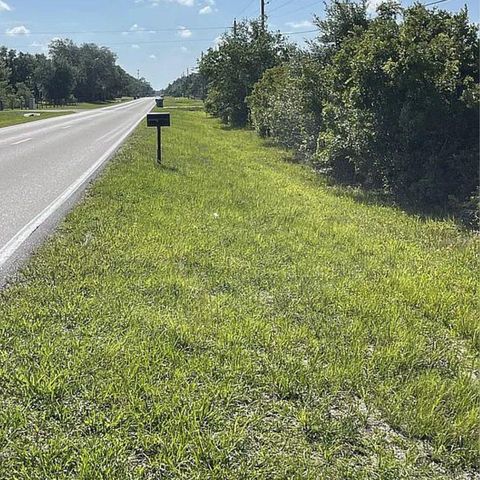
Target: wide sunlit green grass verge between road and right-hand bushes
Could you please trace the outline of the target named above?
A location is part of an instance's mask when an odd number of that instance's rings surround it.
[[[181,105],[0,294],[0,478],[479,478],[478,238]]]

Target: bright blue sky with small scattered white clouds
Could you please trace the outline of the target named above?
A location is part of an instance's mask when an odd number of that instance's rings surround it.
[[[379,0],[372,0],[377,2]],[[428,0],[423,0],[428,2]],[[404,0],[408,5],[410,0]],[[46,51],[55,37],[95,42],[110,47],[128,72],[164,87],[196,65],[202,50],[233,22],[255,17],[260,0],[0,0],[0,44],[31,53]],[[448,0],[444,9],[467,4],[472,21],[479,21],[477,0]],[[322,16],[323,2],[270,0],[272,28],[299,42],[314,34],[312,14]]]

